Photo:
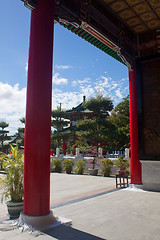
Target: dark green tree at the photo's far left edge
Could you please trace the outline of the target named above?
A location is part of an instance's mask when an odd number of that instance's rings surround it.
[[[6,122],[0,122],[0,143],[1,143],[1,151],[4,152],[6,149],[6,147],[4,146],[4,141],[5,140],[9,140],[10,137],[8,136],[9,131],[5,130],[5,128],[7,128],[9,126],[8,123]],[[9,146],[9,145],[8,145]],[[7,148],[8,148],[7,146]]]

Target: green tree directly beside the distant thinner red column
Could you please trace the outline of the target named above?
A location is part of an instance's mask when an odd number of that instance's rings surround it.
[[[110,122],[117,128],[116,142],[119,149],[130,146],[129,96],[111,112]]]

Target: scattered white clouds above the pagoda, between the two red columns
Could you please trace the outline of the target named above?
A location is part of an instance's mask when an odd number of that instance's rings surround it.
[[[126,79],[125,79],[126,80]],[[62,103],[63,109],[70,109],[75,107],[83,101],[85,95],[87,99],[96,95],[100,91],[104,97],[109,97],[113,100],[116,106],[123,97],[128,94],[128,87],[124,87],[125,81],[113,81],[110,77],[101,76],[96,80],[91,78],[84,78],[83,80],[72,81],[72,86],[78,86],[76,91],[63,92],[60,89],[53,90],[52,108],[55,109]],[[68,90],[68,89],[67,89]]]

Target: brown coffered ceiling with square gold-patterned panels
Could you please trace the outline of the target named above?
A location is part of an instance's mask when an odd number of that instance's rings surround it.
[[[160,0],[103,0],[103,2],[135,33],[160,27]]]

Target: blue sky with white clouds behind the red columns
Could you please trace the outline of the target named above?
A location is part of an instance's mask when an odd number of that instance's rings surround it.
[[[25,116],[31,12],[20,0],[1,0],[0,121],[11,134]],[[55,24],[52,108],[70,109],[101,91],[116,106],[129,93],[128,69],[77,35]]]

